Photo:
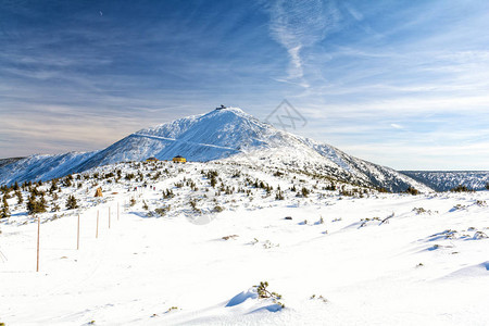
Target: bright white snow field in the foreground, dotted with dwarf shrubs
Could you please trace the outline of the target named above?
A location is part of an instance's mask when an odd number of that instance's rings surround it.
[[[166,176],[137,191],[134,180],[101,181],[103,200],[92,197],[90,181],[63,188],[60,205],[75,193],[80,209],[40,215],[39,273],[37,222],[10,199],[12,216],[0,224],[0,322],[489,324],[489,191],[341,196],[304,177],[301,183],[317,190],[299,198],[286,190],[299,179],[289,173],[240,168],[236,176],[230,165],[167,166]],[[214,193],[201,173],[210,167],[236,189],[247,175],[266,179],[273,191],[280,185],[285,199],[252,187]],[[196,185],[175,187],[184,175]],[[175,196],[162,199],[168,188]],[[205,193],[193,209],[187,204]],[[166,204],[167,214],[152,213]],[[258,298],[260,281],[281,294],[284,309]]]

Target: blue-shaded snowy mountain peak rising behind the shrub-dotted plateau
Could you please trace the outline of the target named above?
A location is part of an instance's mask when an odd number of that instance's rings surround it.
[[[298,170],[362,186],[390,191],[403,191],[410,186],[422,191],[430,190],[391,168],[279,130],[238,108],[214,110],[142,129],[99,152],[30,156],[0,168],[0,183],[46,180],[117,162],[141,161],[148,156],[171,160],[178,154],[199,162],[225,158],[255,162],[258,158],[268,158],[277,167],[285,160]]]

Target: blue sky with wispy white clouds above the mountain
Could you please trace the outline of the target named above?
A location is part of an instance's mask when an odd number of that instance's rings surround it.
[[[0,0],[0,158],[224,103],[399,170],[489,170],[487,1]]]

